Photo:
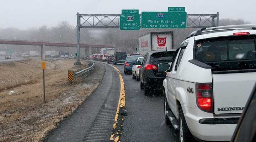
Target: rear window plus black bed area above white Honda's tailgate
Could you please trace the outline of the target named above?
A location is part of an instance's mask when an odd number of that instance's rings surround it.
[[[197,40],[194,59],[213,67],[213,71],[256,69],[256,35]]]

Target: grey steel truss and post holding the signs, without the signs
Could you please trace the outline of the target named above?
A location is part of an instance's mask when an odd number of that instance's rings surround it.
[[[79,14],[76,25],[76,47],[80,65],[80,28],[119,28],[120,14]],[[217,14],[187,14],[187,28],[208,28],[219,25],[219,12]]]

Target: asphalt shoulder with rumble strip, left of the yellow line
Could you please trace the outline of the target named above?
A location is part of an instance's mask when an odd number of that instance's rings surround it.
[[[101,84],[45,141],[109,141],[119,100],[120,79],[113,67],[95,64],[106,71]],[[92,78],[98,78],[97,70]]]

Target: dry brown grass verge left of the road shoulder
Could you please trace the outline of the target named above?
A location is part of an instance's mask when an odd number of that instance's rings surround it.
[[[46,61],[46,103],[42,102],[41,61],[31,59],[0,65],[0,141],[41,141],[72,113],[99,83],[70,85],[68,70],[74,60]],[[11,90],[15,94],[9,95]]]

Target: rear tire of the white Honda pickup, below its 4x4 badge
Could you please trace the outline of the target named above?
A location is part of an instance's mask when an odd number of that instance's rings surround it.
[[[182,108],[180,107],[179,109],[179,132],[178,136],[180,139],[180,142],[191,142],[194,141],[194,138],[188,129],[186,119],[184,117]],[[184,135],[185,134],[185,135]]]

